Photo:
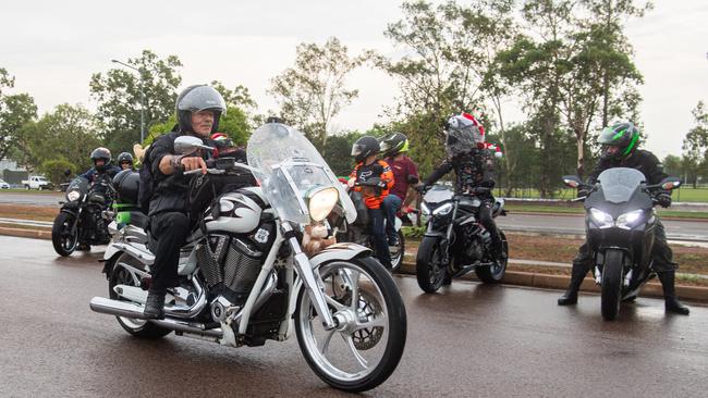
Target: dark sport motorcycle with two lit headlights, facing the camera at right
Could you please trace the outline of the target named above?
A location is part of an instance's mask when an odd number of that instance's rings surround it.
[[[563,176],[571,188],[588,192],[576,200],[585,202],[586,239],[595,259],[593,274],[600,285],[601,312],[614,320],[622,301],[634,300],[642,286],[656,277],[651,269],[657,216],[654,207],[660,190],[678,188],[676,177],[647,185],[635,169],[615,167],[600,173],[595,185],[577,176]]]

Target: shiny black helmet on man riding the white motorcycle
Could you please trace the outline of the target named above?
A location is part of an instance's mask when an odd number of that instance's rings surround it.
[[[227,103],[215,88],[207,85],[196,85],[185,88],[178,97],[175,109],[178,124],[183,133],[194,133],[192,128],[192,112],[212,111],[213,126],[211,133],[219,130],[219,117],[227,114]]]

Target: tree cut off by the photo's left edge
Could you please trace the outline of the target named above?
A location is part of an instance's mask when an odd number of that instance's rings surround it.
[[[27,94],[7,95],[3,88],[14,87],[14,77],[0,67],[0,160],[17,142],[16,133],[27,122],[37,117],[37,105]]]

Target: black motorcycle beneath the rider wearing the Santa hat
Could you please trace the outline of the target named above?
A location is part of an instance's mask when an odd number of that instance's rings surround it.
[[[454,195],[447,187],[434,186],[423,197],[422,214],[427,231],[418,246],[416,276],[425,293],[436,293],[473,270],[484,283],[500,283],[506,272],[509,245],[500,229],[502,259],[495,259],[491,236],[478,220],[483,202],[476,195],[490,188],[478,187],[472,195]],[[504,200],[496,199],[492,216],[506,215]]]

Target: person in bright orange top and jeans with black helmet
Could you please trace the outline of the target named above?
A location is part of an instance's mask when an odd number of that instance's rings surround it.
[[[361,191],[364,196],[364,203],[369,211],[371,237],[376,253],[387,269],[391,269],[391,253],[386,238],[386,228],[383,226],[383,209],[381,203],[389,195],[389,189],[393,186],[393,173],[389,164],[377,159],[380,151],[378,139],[371,136],[364,136],[352,146],[352,156],[356,161],[356,166],[350,174],[347,182],[350,188]],[[356,183],[365,183],[371,178],[380,178],[377,187],[355,186]]]

